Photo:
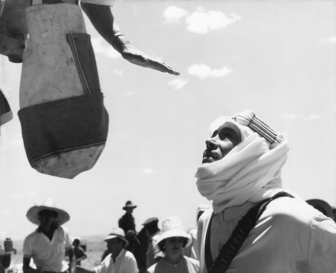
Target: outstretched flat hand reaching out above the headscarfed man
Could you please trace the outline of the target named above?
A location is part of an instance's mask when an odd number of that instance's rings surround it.
[[[118,37],[119,38],[119,37]],[[117,41],[116,41],[117,42]],[[166,64],[165,62],[161,62],[158,60],[152,59],[147,54],[138,50],[132,43],[129,41],[121,41],[118,39],[116,43],[116,50],[121,53],[123,58],[131,63],[136,65],[140,65],[142,67],[152,68],[161,72],[167,72],[173,75],[179,75],[180,72]],[[118,45],[119,44],[119,45]]]

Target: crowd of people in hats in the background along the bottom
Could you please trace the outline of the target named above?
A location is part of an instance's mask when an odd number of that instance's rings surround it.
[[[327,202],[319,199],[306,202],[336,222],[336,208],[331,208]],[[199,272],[197,227],[185,230],[182,220],[171,216],[162,221],[160,229],[159,219],[150,217],[137,232],[132,215],[136,207],[131,201],[126,202],[123,207],[125,214],[119,219],[118,227],[111,228],[104,239],[106,250],[102,253],[100,264],[94,268],[85,268],[81,266],[81,261],[88,257],[87,246],[81,245],[79,238],[72,238],[71,243],[68,230],[61,226],[70,216],[64,210],[56,208],[51,199],[46,200],[42,206],[33,206],[28,210],[27,218],[39,227],[24,241],[23,272],[70,273],[75,268],[78,273]],[[209,205],[199,205],[196,226],[200,216],[209,208]],[[10,266],[9,256],[5,256],[5,253],[16,253],[12,244],[6,244],[9,241],[7,238],[4,244],[7,248],[0,246],[2,273]],[[49,248],[48,245],[54,246]]]

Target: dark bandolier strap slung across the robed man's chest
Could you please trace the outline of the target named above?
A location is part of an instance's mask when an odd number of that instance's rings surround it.
[[[266,206],[278,197],[291,197],[292,196],[284,191],[278,192],[275,196],[265,199],[250,209],[245,216],[238,221],[238,224],[229,240],[219,250],[217,258],[213,261],[209,273],[224,273],[231,264],[233,258],[237,255],[240,247],[248,236],[248,233],[259,219],[260,215],[266,209]]]

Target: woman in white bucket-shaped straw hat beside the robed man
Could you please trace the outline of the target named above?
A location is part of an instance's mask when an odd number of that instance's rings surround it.
[[[165,256],[147,269],[149,273],[198,273],[199,261],[183,256],[182,249],[192,242],[184,229],[179,217],[171,216],[163,220],[157,244]]]

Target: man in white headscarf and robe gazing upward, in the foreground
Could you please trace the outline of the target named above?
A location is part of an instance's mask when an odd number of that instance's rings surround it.
[[[251,110],[221,116],[209,129],[195,174],[199,192],[213,201],[199,220],[200,272],[215,270],[238,221],[279,192],[291,197],[267,205],[226,272],[335,272],[335,223],[282,187],[287,140]]]

